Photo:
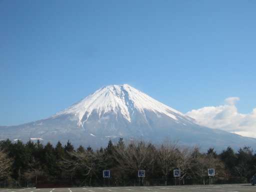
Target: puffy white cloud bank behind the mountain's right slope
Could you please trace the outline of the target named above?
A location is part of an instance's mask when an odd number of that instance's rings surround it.
[[[186,115],[202,126],[256,138],[256,108],[247,114],[238,113],[235,106],[235,101],[238,100],[239,97],[228,97],[223,105],[193,109]]]

